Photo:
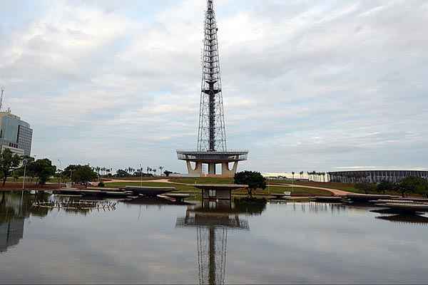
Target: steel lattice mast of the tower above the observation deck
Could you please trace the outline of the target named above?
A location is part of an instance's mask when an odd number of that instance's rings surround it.
[[[203,39],[198,151],[227,150],[217,32],[213,0],[208,0]]]

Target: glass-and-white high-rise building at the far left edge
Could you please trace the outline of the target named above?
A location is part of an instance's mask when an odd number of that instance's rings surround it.
[[[21,120],[10,111],[0,112],[0,147],[1,151],[9,148],[19,155],[31,155],[33,130],[29,123]]]

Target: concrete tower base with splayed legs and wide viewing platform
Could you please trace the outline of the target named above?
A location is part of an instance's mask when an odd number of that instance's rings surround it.
[[[234,177],[238,170],[238,162],[247,160],[248,151],[238,152],[197,152],[177,151],[179,160],[184,160],[187,165],[188,174],[208,177]],[[195,163],[195,167],[191,162]],[[229,167],[233,163],[233,167]],[[208,173],[203,173],[203,165],[208,165]],[[221,173],[216,173],[216,165],[221,165]]]

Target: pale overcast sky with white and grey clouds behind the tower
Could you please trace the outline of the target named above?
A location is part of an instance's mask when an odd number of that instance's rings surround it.
[[[204,0],[3,0],[0,84],[63,165],[184,172],[196,147]],[[218,0],[240,169],[426,168],[428,1]]]

